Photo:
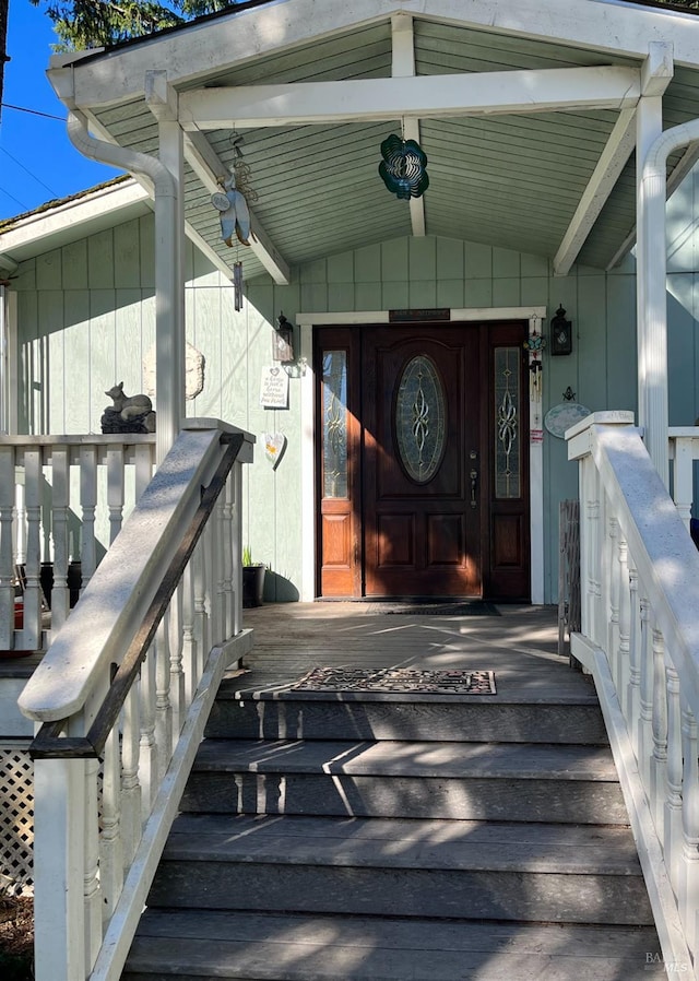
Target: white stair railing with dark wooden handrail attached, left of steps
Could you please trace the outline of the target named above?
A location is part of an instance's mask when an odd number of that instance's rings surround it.
[[[190,421],[27,682],[35,977],[117,979],[241,628],[254,438]]]

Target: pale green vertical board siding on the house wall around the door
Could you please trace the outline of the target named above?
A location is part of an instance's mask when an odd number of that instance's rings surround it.
[[[685,189],[683,189],[685,190]],[[687,193],[695,193],[690,184]],[[671,423],[694,423],[699,406],[695,342],[694,226],[674,218],[680,243],[671,265]],[[677,226],[677,227],[675,227]],[[235,258],[235,257],[232,257]],[[684,262],[684,264],[682,264]],[[692,264],[694,263],[694,264]],[[272,361],[280,311],[342,312],[411,307],[559,305],[573,323],[573,352],[544,355],[542,417],[570,386],[591,411],[637,407],[636,286],[632,257],[612,272],[573,267],[554,277],[543,258],[452,239],[399,238],[308,263],[288,286],[266,276],[246,283],[236,311],[228,281],[187,243],[187,339],[205,358],[204,389],[188,415],[216,416],[258,437],[246,468],[245,531],[253,558],[270,566],[266,598],[294,600],[301,577],[300,382],[289,379],[287,410],[259,405],[261,370]],[[153,218],[144,216],[23,263],[17,291],[19,430],[99,433],[109,400],[123,381],[144,390],[143,356],[155,340]],[[678,298],[679,297],[679,298]],[[684,299],[683,299],[684,298]],[[547,330],[547,324],[546,324]],[[297,335],[298,338],[298,335]],[[294,373],[292,373],[294,374]],[[675,378],[682,385],[675,383]],[[156,405],[157,409],[157,405]],[[263,434],[287,447],[276,470]],[[566,445],[544,435],[546,602],[556,601],[558,506],[577,496],[577,469]]]

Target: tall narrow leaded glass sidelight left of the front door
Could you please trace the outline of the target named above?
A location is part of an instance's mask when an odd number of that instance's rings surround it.
[[[347,352],[323,352],[323,497],[347,496]]]

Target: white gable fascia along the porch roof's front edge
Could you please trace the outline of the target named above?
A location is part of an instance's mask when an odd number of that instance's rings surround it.
[[[649,38],[673,44],[677,64],[699,64],[699,19],[677,11],[593,0],[283,0],[248,10],[233,8],[211,22],[188,25],[122,49],[79,51],[51,58],[49,80],[75,72],[75,101],[84,109],[142,95],[146,69],[167,70],[176,87],[228,67],[380,23],[398,11],[443,24],[570,44],[642,59]],[[60,95],[60,93],[59,93]]]

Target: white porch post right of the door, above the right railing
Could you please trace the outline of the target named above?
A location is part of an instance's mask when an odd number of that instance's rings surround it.
[[[643,179],[650,147],[663,131],[662,99],[639,101],[636,138],[637,225],[637,343],[638,416],[648,452],[663,483],[670,485],[667,463],[667,314],[665,295],[665,181],[654,175]]]

